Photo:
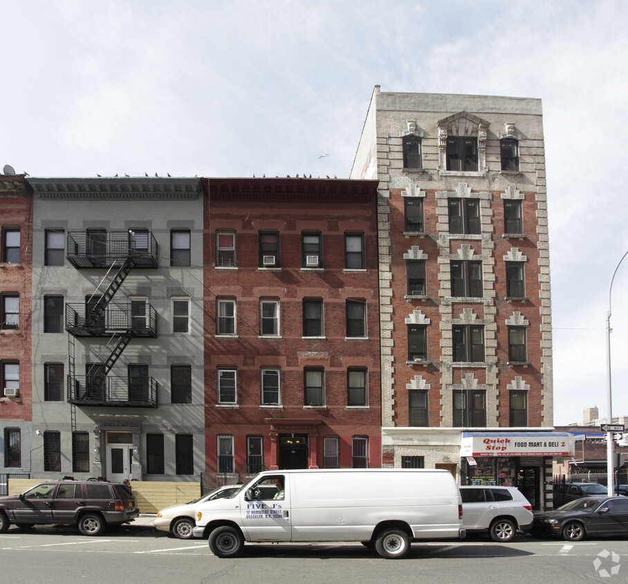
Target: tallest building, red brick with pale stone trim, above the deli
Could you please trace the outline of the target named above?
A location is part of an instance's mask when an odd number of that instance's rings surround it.
[[[540,100],[376,86],[351,178],[380,181],[383,466],[517,484],[544,507],[573,442],[551,431]]]

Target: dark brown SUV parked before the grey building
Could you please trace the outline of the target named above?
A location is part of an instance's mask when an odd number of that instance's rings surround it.
[[[20,495],[0,498],[0,533],[10,524],[28,529],[41,524],[76,525],[98,536],[108,525],[126,523],[140,510],[127,485],[95,481],[50,481]]]

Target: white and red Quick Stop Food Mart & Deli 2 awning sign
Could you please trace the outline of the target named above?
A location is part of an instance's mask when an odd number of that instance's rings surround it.
[[[573,456],[569,432],[463,432],[464,456]]]

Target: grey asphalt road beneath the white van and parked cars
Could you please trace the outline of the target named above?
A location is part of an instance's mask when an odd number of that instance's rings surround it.
[[[347,545],[248,544],[239,558],[213,556],[205,540],[178,540],[149,528],[120,527],[100,537],[75,529],[11,528],[0,535],[3,582],[37,583],[625,583],[628,540],[582,542],[517,536],[414,543],[385,560]],[[606,573],[604,573],[604,570]],[[605,575],[608,574],[608,575]]]

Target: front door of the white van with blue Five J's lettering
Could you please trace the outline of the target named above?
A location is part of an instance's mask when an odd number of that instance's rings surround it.
[[[247,540],[290,541],[292,524],[287,478],[281,473],[264,475],[241,494],[241,526]]]

